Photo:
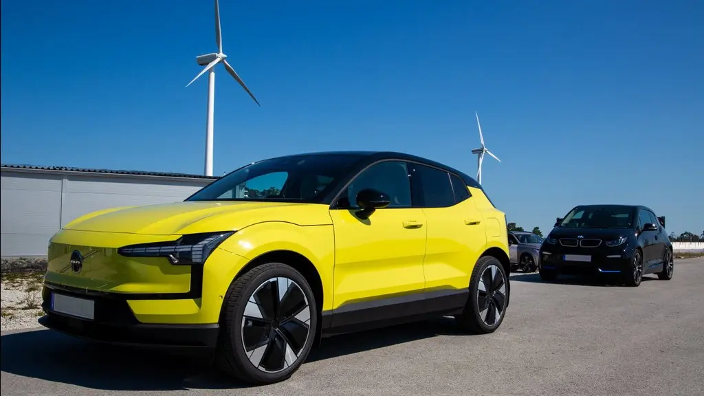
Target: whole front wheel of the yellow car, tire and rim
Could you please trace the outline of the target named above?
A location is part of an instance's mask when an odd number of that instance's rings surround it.
[[[285,317],[277,315],[281,303]],[[315,303],[306,278],[286,264],[256,266],[235,279],[220,314],[218,369],[254,385],[288,379],[313,346]]]

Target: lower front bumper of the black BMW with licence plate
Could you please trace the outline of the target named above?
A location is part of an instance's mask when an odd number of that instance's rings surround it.
[[[572,261],[565,255],[591,256],[591,261]],[[619,274],[627,271],[631,263],[629,252],[614,252],[609,249],[541,249],[539,268],[559,273],[603,273]]]

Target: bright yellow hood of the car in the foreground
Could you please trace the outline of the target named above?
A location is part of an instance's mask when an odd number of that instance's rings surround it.
[[[66,230],[182,235],[239,230],[263,221],[331,224],[327,205],[288,202],[174,202],[106,209],[81,216]]]

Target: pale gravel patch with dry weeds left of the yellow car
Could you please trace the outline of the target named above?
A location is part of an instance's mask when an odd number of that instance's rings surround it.
[[[4,274],[0,283],[2,331],[35,328],[42,315],[41,278],[38,273]]]

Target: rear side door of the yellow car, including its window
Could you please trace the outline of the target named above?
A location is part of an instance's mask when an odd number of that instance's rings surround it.
[[[414,206],[422,207],[427,223],[425,288],[466,289],[486,244],[482,214],[458,176],[418,163],[409,166]]]

